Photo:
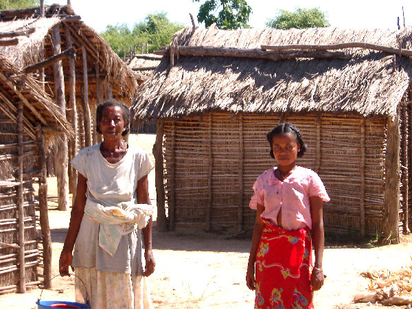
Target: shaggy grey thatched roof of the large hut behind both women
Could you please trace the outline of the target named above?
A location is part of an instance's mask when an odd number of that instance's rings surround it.
[[[179,46],[260,49],[261,45],[327,45],[365,42],[412,49],[412,29],[306,30],[187,28]],[[351,60],[297,58],[265,60],[180,56],[170,69],[165,57],[133,104],[135,117],[176,118],[208,111],[233,113],[396,114],[411,82],[412,60],[368,49],[345,49]]]

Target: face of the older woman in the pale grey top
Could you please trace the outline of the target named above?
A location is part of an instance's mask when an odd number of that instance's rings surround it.
[[[121,140],[125,129],[122,108],[120,106],[106,106],[103,108],[102,119],[98,122],[98,126],[105,140]]]

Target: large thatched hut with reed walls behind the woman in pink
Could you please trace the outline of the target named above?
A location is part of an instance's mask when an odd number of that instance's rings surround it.
[[[251,229],[251,186],[273,166],[265,135],[288,121],[309,145],[298,163],[330,194],[326,231],[397,241],[411,228],[411,38],[411,28],[177,32],[133,104],[135,119],[157,119],[158,222],[166,199],[171,229]]]

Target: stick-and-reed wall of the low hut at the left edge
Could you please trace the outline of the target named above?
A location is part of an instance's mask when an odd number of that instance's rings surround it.
[[[18,158],[16,124],[0,113],[0,181],[15,181]],[[33,177],[36,174],[37,146],[25,136],[23,159],[25,282],[26,286],[38,284],[38,238],[34,201]],[[0,242],[19,244],[19,214],[17,187],[0,185]],[[0,294],[16,292],[19,286],[19,249],[0,244]]]

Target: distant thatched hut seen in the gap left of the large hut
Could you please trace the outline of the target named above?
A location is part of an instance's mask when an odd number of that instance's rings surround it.
[[[141,74],[141,78],[147,80],[160,65],[163,56],[155,54],[137,54],[128,60],[128,67]],[[135,122],[132,126],[133,132],[155,133],[156,121],[154,119],[144,122]]]

